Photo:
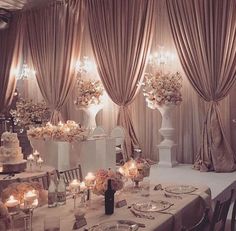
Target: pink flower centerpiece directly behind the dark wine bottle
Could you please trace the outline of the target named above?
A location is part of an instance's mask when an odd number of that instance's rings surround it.
[[[111,179],[111,187],[113,190],[119,191],[123,188],[124,182],[122,175],[119,172],[115,172],[110,169],[100,169],[95,174],[93,193],[97,195],[104,195],[107,190],[108,179]]]

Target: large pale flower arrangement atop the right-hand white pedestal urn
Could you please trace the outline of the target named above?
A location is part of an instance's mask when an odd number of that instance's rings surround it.
[[[152,109],[162,105],[178,105],[182,101],[181,88],[182,76],[179,72],[164,73],[157,71],[155,74],[147,73],[144,76],[143,94],[148,107]]]

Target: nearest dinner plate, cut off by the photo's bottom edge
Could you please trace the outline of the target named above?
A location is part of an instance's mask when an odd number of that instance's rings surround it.
[[[107,221],[101,223],[99,225],[95,225],[91,227],[89,231],[136,231],[138,230],[138,225],[135,222],[130,223],[130,221],[126,224],[125,222],[117,221]]]

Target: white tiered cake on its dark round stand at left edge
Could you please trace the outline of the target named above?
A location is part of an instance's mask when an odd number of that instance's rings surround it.
[[[3,172],[21,172],[26,168],[16,133],[4,132],[1,136],[0,162]]]

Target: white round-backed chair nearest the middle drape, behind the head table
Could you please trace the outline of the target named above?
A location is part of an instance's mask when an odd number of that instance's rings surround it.
[[[115,138],[116,142],[116,163],[125,161],[124,157],[124,142],[125,142],[125,129],[121,126],[116,126],[111,130],[112,138]]]

